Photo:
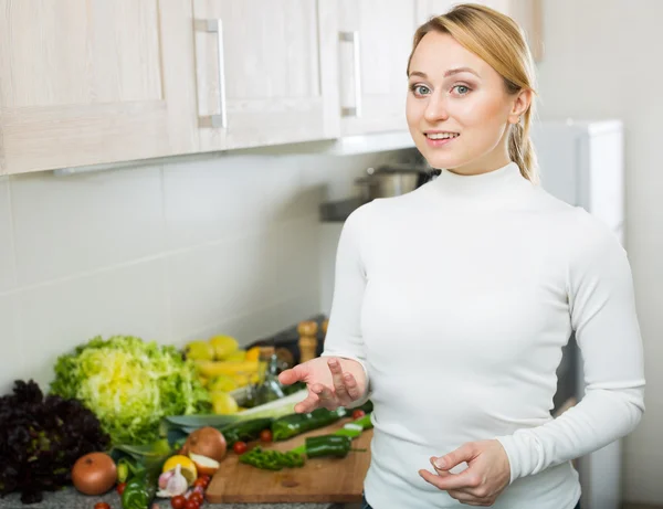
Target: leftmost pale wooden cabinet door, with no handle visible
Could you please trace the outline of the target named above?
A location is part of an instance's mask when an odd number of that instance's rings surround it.
[[[0,0],[0,168],[197,150],[190,0]]]

